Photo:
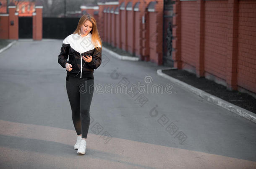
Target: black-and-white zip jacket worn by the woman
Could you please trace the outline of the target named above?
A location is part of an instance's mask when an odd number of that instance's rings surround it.
[[[84,78],[89,74],[93,74],[94,69],[97,69],[101,64],[102,48],[98,43],[99,51],[96,51],[95,46],[91,43],[91,33],[81,37],[81,35],[71,34],[63,40],[58,56],[58,63],[65,68],[66,63],[72,65],[72,71],[67,71],[67,75]],[[82,56],[91,55],[91,62],[85,62]],[[67,61],[69,56],[69,60]]]

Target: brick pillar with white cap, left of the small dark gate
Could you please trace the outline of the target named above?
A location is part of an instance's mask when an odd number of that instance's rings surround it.
[[[18,13],[16,6],[10,5],[9,8],[9,39],[18,40]]]

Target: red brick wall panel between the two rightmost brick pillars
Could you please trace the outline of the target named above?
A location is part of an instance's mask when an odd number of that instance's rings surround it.
[[[205,1],[205,71],[223,80],[226,78],[227,4],[227,0]]]

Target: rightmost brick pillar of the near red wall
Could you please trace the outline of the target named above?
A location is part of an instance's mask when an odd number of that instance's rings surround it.
[[[228,90],[237,90],[238,0],[228,0],[226,82]]]

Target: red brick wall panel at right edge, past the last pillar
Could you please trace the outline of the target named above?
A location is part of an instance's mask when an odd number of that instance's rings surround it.
[[[256,93],[256,1],[239,0],[238,86]]]

